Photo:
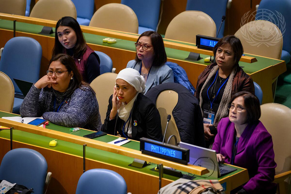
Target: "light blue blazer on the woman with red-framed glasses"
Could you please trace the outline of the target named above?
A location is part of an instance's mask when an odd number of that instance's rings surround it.
[[[136,60],[130,60],[126,65],[126,68],[133,68],[139,71],[141,69],[141,61],[136,62]],[[145,93],[152,87],[168,82],[174,82],[174,74],[172,69],[166,64],[159,67],[152,66],[148,79],[145,83]]]

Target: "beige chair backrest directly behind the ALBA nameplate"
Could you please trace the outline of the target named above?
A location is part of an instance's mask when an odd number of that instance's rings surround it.
[[[215,37],[213,19],[202,11],[184,11],[172,19],[165,38],[196,43],[197,34]]]

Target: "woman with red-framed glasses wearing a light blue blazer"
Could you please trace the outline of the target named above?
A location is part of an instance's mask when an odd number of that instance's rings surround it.
[[[174,82],[173,71],[166,65],[167,55],[162,36],[155,31],[142,33],[135,43],[136,57],[127,63],[145,79],[145,92],[161,83]]]

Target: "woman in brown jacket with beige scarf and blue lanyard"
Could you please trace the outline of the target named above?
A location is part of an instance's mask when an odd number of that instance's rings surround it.
[[[221,38],[213,48],[216,62],[199,75],[194,96],[203,114],[206,147],[212,145],[221,118],[227,117],[227,105],[237,92],[255,94],[253,80],[239,67],[244,53],[242,43],[234,35]]]

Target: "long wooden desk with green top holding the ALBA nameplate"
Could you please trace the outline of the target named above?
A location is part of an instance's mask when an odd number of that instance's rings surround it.
[[[56,21],[33,19],[24,16],[12,16],[9,14],[0,14],[0,47],[4,47],[5,43],[13,38],[13,22],[16,19],[16,36],[28,36],[36,39],[42,46],[42,64],[40,76],[45,75],[49,60],[51,58],[52,49],[54,47],[54,34],[49,36],[39,35],[43,25],[54,26]],[[8,20],[9,19],[9,20]],[[42,25],[38,25],[42,24]],[[113,61],[113,67],[118,73],[126,67],[127,62],[135,58],[134,42],[138,35],[132,33],[124,33],[113,30],[106,30],[88,26],[81,26],[88,45],[96,51],[101,51],[109,55]],[[53,29],[55,30],[55,29]],[[108,35],[118,38],[116,44],[103,43],[102,39]],[[190,51],[196,51],[202,58],[208,57],[211,51],[197,49],[194,44],[187,42],[179,42],[175,40],[164,39],[168,61],[178,63],[187,72],[187,76],[194,87],[196,87],[199,74],[209,63],[204,60],[192,62],[185,60]],[[273,79],[286,71],[286,63],[282,60],[266,58],[262,56],[254,56],[245,54],[239,65],[242,66],[244,72],[249,74],[253,81],[257,82],[263,91],[263,103],[273,102]],[[250,57],[250,58],[249,58]],[[247,63],[251,58],[255,58],[257,62]]]

